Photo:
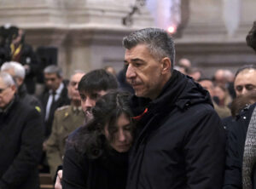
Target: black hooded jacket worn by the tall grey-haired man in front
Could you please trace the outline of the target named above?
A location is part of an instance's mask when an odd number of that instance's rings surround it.
[[[139,116],[127,189],[221,188],[224,128],[205,89],[173,71],[155,100],[134,96],[131,106],[148,112]]]

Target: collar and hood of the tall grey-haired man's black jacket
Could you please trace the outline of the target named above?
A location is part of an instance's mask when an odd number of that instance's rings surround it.
[[[160,95],[155,100],[149,100],[142,97],[133,96],[131,98],[131,109],[135,117],[141,115],[146,108],[148,112],[170,112],[170,109],[177,106],[180,110],[189,108],[189,106],[205,102],[212,105],[210,94],[203,89],[200,84],[174,70],[172,77],[163,87]]]

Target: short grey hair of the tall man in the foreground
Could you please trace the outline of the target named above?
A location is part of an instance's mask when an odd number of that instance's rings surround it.
[[[146,44],[150,54],[156,60],[168,57],[172,61],[172,70],[175,61],[175,45],[172,37],[160,28],[145,28],[134,31],[123,38],[125,49],[132,49],[137,44]]]

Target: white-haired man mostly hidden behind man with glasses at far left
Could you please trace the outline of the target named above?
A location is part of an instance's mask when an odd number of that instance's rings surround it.
[[[41,112],[41,103],[33,95],[28,94],[26,90],[26,85],[24,84],[24,79],[26,77],[26,70],[19,62],[10,61],[4,62],[1,66],[2,72],[8,72],[15,80],[17,85],[17,94],[21,100],[24,100],[27,104],[36,107],[38,112]]]

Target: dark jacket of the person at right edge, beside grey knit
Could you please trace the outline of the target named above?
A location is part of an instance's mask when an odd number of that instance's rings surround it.
[[[241,189],[241,168],[247,129],[256,103],[245,107],[234,119],[224,119],[227,128],[226,164],[223,189]],[[254,183],[255,183],[254,168]],[[253,188],[256,188],[253,183]]]

